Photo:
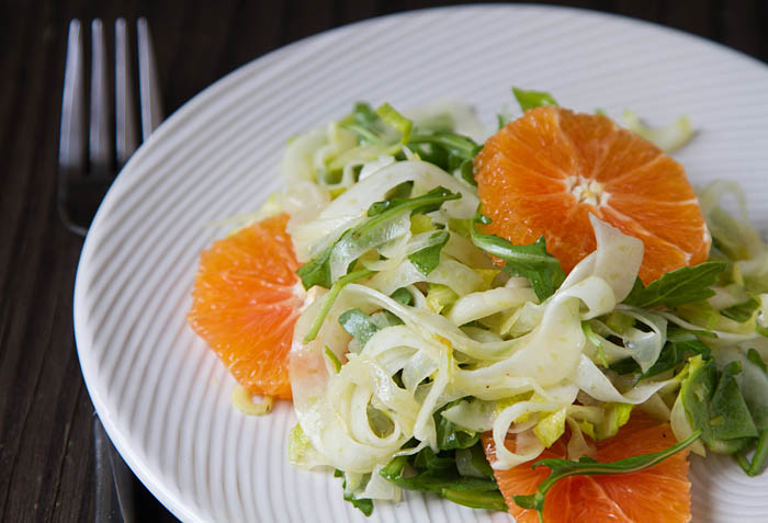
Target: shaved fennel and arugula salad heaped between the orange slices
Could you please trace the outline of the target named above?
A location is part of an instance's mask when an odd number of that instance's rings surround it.
[[[524,114],[499,115],[500,129],[563,111],[549,93],[513,92]],[[663,129],[633,113],[625,121],[631,139],[667,151],[692,136],[685,118]],[[704,258],[654,274],[647,241],[596,212],[608,182],[575,178],[591,250],[568,266],[560,252],[571,240],[494,234],[510,211],[481,178],[501,172],[489,156],[478,160],[483,138],[461,104],[400,113],[358,103],[289,143],[286,189],[242,227],[285,216],[298,268],[284,356],[297,418],[291,463],[335,470],[365,514],[406,489],[541,521],[564,478],[637,474],[680,452],[731,454],[760,474],[768,250],[743,203],[738,218],[721,206],[726,194],[742,202],[738,187],[716,182],[688,202],[700,208]],[[246,396],[256,393],[279,396],[258,387]],[[676,441],[601,459],[600,442],[626,437],[643,416]],[[556,445],[564,454],[544,458]],[[531,465],[546,467],[546,479],[509,491],[505,473]]]

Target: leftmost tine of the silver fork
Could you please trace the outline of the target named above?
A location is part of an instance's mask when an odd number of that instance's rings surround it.
[[[83,82],[82,36],[80,22],[69,23],[67,37],[67,65],[64,72],[61,96],[61,128],[59,132],[59,164],[72,171],[84,169],[86,143],[83,141]]]

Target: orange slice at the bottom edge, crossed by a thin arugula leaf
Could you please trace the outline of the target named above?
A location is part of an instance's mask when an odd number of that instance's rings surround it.
[[[565,457],[565,437],[534,461]],[[619,433],[597,442],[597,461],[614,462],[637,454],[662,451],[676,443],[668,423],[658,423],[643,412],[633,412]],[[506,442],[515,447],[515,437]],[[496,448],[490,433],[483,434],[483,445],[493,463]],[[550,474],[549,467],[531,468],[524,463],[509,470],[495,470],[509,513],[517,523],[538,523],[535,511],[515,504],[513,496],[533,493]],[[682,523],[690,521],[690,482],[688,451],[681,451],[648,469],[607,476],[571,476],[556,482],[544,502],[546,523],[625,522]]]

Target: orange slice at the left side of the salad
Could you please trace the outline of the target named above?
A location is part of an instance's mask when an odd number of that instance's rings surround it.
[[[285,399],[287,353],[304,303],[287,219],[267,218],[204,251],[187,317],[240,385]]]

